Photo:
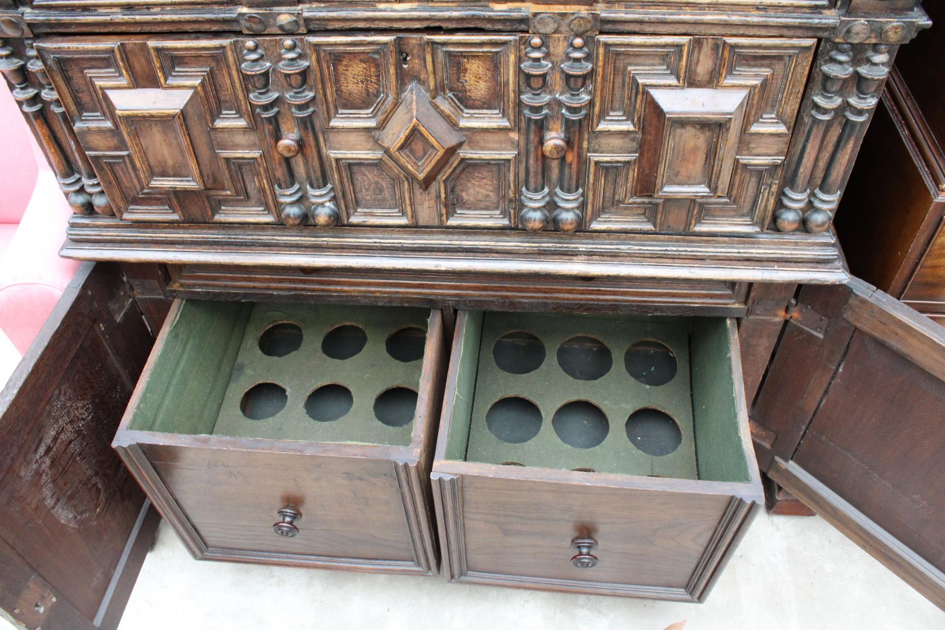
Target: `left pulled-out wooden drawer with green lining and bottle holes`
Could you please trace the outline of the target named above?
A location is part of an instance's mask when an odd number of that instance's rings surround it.
[[[439,311],[178,300],[113,446],[197,557],[435,573],[444,361]]]

